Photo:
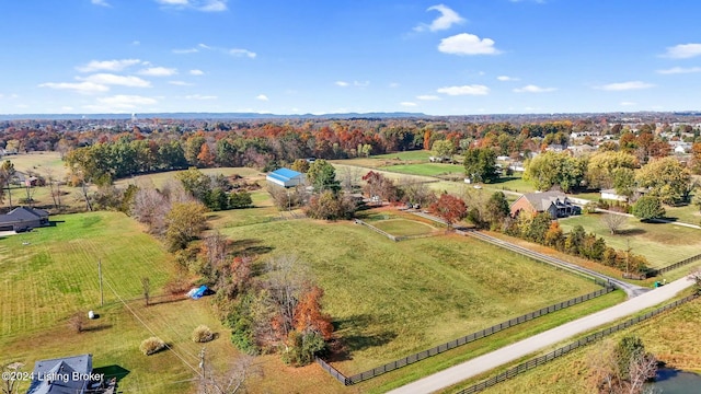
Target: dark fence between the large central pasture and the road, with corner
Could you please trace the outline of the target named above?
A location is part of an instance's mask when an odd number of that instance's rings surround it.
[[[342,382],[343,384],[345,384],[345,385],[356,384],[356,383],[372,379],[375,376],[381,375],[381,374],[383,374],[386,372],[390,372],[390,371],[393,371],[395,369],[399,369],[399,368],[402,368],[402,367],[406,367],[406,366],[412,364],[414,362],[421,361],[421,360],[423,360],[425,358],[439,355],[439,354],[448,351],[450,349],[455,349],[458,346],[462,346],[462,345],[467,345],[467,344],[473,343],[473,341],[475,341],[478,339],[487,337],[487,336],[490,336],[492,334],[496,334],[496,333],[498,333],[501,331],[504,331],[506,328],[514,327],[516,325],[529,322],[529,321],[531,321],[533,318],[537,318],[537,317],[540,317],[540,316],[544,316],[544,315],[547,315],[549,313],[553,313],[553,312],[563,310],[565,308],[570,308],[570,306],[583,303],[585,301],[595,299],[597,297],[601,297],[604,294],[608,294],[613,290],[616,290],[614,287],[607,286],[607,287],[605,287],[602,289],[599,289],[597,291],[594,291],[594,292],[590,292],[590,293],[587,293],[587,294],[584,294],[584,296],[575,297],[575,298],[570,299],[567,301],[559,302],[559,303],[552,304],[550,306],[541,308],[541,309],[539,309],[537,311],[529,312],[527,314],[520,315],[518,317],[514,317],[514,318],[512,318],[509,321],[506,321],[506,322],[503,322],[503,323],[499,323],[499,324],[495,324],[495,325],[493,325],[493,326],[491,326],[489,328],[472,333],[470,335],[466,335],[463,337],[450,340],[450,341],[445,343],[445,344],[440,344],[440,345],[438,345],[436,347],[433,347],[433,348],[430,348],[428,350],[423,350],[423,351],[410,355],[410,356],[404,357],[402,359],[388,362],[388,363],[386,363],[383,366],[374,368],[371,370],[367,370],[365,372],[360,372],[360,373],[354,374],[352,376],[345,376],[343,373],[338,372],[336,369],[334,369],[333,367],[331,367],[329,363],[326,363],[325,361],[323,361],[321,359],[319,359],[317,362],[320,366],[322,366],[322,368],[326,372],[329,372],[332,376],[334,376],[337,381]]]

